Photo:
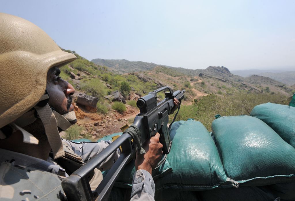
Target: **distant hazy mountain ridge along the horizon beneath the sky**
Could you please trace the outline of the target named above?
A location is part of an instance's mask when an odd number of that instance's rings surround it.
[[[276,73],[267,73],[265,70],[243,70],[243,71],[232,71],[230,72],[229,69],[223,66],[209,66],[206,69],[185,69],[185,68],[176,68],[166,65],[159,65],[155,63],[148,63],[143,61],[128,61],[126,59],[92,59],[92,62],[95,64],[101,65],[101,66],[107,66],[114,72],[118,74],[123,73],[130,73],[130,72],[142,72],[142,71],[150,71],[153,70],[155,67],[163,66],[168,67],[173,71],[185,74],[187,76],[202,76],[210,77],[213,76],[215,78],[219,78],[222,80],[227,80],[231,82],[250,82],[253,81],[255,84],[259,82],[259,77],[250,77],[252,73],[255,73],[256,75],[264,76],[264,77],[270,77],[272,79],[264,79],[263,77],[260,77],[264,80],[265,83],[268,83],[269,85],[292,85],[295,84],[295,71],[294,74],[290,73],[288,74],[280,74],[280,70],[272,70],[272,72]],[[262,74],[263,73],[263,74]],[[238,74],[238,75],[237,75]],[[241,76],[240,74],[244,75]],[[248,75],[248,76],[245,76]],[[281,76],[279,76],[281,75]],[[254,84],[253,83],[253,84]]]

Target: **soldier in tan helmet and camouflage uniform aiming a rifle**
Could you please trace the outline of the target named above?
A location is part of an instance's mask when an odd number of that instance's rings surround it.
[[[0,13],[1,200],[65,200],[61,180],[111,143],[60,138],[59,131],[77,120],[75,90],[59,77],[59,67],[75,59],[36,25]],[[131,200],[154,200],[151,170],[162,155],[159,134],[143,147],[147,152],[136,157]],[[119,155],[118,149],[89,175],[92,189]]]

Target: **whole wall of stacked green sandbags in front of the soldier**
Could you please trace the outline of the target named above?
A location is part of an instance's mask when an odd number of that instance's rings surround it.
[[[251,116],[214,120],[213,138],[201,122],[175,122],[167,160],[152,172],[155,200],[295,200],[294,115],[293,107],[262,104]],[[109,200],[126,197],[134,172],[132,161]]]

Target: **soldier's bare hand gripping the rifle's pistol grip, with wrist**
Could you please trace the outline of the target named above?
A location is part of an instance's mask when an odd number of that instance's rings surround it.
[[[155,168],[160,161],[163,151],[163,145],[160,143],[160,134],[157,133],[142,145],[145,154],[136,154],[135,170],[146,170],[152,174],[152,169]],[[139,150],[138,150],[139,151]]]

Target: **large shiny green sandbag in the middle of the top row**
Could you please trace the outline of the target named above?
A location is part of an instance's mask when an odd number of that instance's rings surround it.
[[[295,181],[295,149],[252,116],[223,116],[212,132],[227,176],[242,185]]]

